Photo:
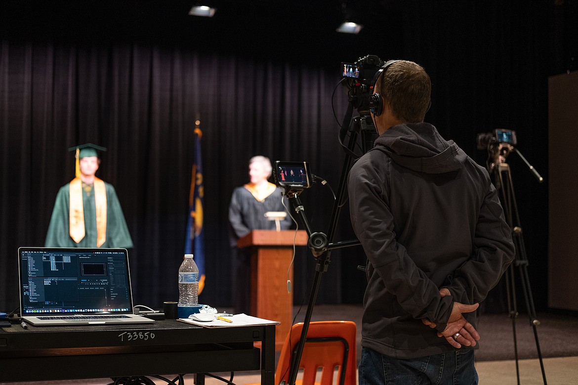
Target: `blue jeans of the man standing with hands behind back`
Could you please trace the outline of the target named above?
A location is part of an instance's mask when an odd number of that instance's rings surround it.
[[[473,350],[399,360],[363,347],[359,385],[476,385]]]

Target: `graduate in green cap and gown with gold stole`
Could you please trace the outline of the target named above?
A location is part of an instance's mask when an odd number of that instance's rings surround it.
[[[132,239],[112,184],[95,176],[100,165],[98,151],[104,147],[87,143],[76,151],[76,177],[56,196],[46,247],[123,247]]]

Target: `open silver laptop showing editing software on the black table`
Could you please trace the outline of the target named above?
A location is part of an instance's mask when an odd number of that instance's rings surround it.
[[[133,314],[126,249],[20,247],[20,314],[32,325],[153,323]]]

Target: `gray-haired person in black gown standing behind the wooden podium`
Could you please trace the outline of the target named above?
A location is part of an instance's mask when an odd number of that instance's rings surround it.
[[[251,261],[247,248],[239,249],[239,238],[255,229],[275,230],[275,221],[265,217],[266,212],[286,212],[281,198],[283,194],[275,184],[268,182],[272,173],[271,161],[264,156],[249,160],[250,182],[236,187],[229,204],[229,242],[232,248],[233,272],[232,293],[235,313],[250,312]],[[280,221],[280,227],[291,227],[291,217],[287,214]]]

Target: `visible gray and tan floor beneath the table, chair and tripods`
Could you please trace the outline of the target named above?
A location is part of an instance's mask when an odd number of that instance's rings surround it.
[[[219,309],[230,311],[230,309]],[[312,313],[312,321],[351,320],[358,325],[357,351],[361,351],[361,305],[318,305]],[[306,309],[294,308],[295,322],[303,321]],[[542,351],[547,383],[578,385],[578,317],[553,313],[539,313],[536,318],[538,342]],[[480,349],[476,351],[476,369],[480,385],[543,384],[536,340],[529,318],[520,314],[516,319],[518,345],[518,371],[514,360],[512,319],[507,314],[483,314],[478,325]],[[277,358],[279,353],[277,353]],[[214,373],[228,379],[230,373]],[[171,376],[166,376],[172,379]],[[235,373],[234,383],[254,384],[260,381],[258,372]],[[58,382],[25,382],[10,385],[105,385],[110,379],[70,380]],[[191,375],[185,377],[186,385],[192,385]],[[0,385],[6,383],[0,382]],[[155,380],[155,384],[166,384]],[[220,380],[207,378],[206,385],[223,385]]]

